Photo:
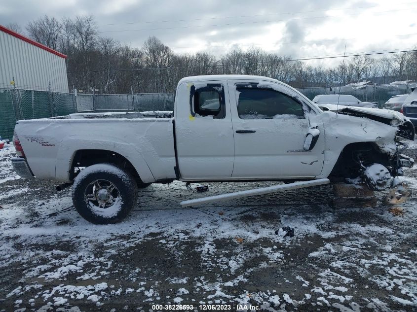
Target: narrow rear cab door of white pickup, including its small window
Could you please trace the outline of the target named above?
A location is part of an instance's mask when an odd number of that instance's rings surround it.
[[[175,137],[182,179],[231,176],[234,142],[227,81],[178,87]]]

